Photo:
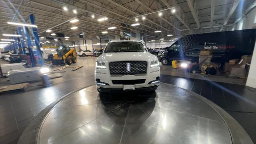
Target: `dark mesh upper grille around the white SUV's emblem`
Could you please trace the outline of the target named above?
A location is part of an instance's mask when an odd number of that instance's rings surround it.
[[[127,64],[130,63],[130,71],[128,71]],[[109,70],[111,75],[135,75],[146,74],[148,62],[146,61],[119,61],[110,62]]]

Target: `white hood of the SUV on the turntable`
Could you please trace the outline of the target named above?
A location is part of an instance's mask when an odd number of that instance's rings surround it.
[[[156,56],[149,52],[110,52],[103,53],[97,58],[100,62],[116,62],[116,61],[148,61],[158,60]]]

